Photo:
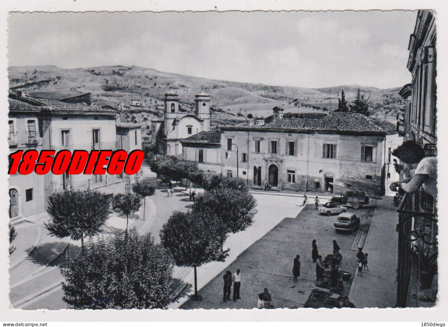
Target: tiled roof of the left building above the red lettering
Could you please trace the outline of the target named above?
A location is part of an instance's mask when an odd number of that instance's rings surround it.
[[[58,100],[36,99],[29,97],[15,98],[11,97],[9,101],[9,111],[42,111],[50,110],[53,112],[107,112],[120,113],[119,110],[111,106],[88,106],[86,103],[66,103]]]

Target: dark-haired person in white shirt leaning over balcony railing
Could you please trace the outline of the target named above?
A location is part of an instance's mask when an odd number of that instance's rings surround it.
[[[392,151],[409,169],[415,169],[414,176],[390,185],[392,191],[400,187],[407,193],[414,193],[421,186],[426,193],[437,199],[437,157],[425,157],[425,151],[416,141],[408,140]]]

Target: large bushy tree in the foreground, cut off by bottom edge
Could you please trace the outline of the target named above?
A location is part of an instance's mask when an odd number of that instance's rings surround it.
[[[86,242],[62,269],[71,309],[166,309],[173,260],[151,234],[129,232]]]

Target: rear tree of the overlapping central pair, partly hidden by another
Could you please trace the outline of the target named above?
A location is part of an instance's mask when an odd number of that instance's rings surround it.
[[[252,225],[256,205],[257,201],[247,191],[215,188],[196,197],[193,212],[217,217],[223,245],[228,233],[237,233]]]

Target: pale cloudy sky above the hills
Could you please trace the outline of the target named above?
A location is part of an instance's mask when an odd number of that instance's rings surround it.
[[[411,81],[416,12],[11,13],[9,65],[136,65],[299,87]]]

